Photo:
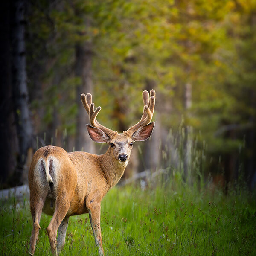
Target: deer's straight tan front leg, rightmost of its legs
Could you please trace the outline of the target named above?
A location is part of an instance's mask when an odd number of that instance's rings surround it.
[[[89,218],[90,218],[90,224],[93,229],[95,244],[99,250],[99,256],[104,256],[104,251],[102,247],[101,230],[100,230],[100,203],[90,204]]]

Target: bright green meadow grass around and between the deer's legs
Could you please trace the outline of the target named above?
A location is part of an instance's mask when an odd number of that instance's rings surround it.
[[[175,185],[174,185],[175,184]],[[256,255],[256,200],[182,182],[114,187],[102,201],[105,255]],[[51,255],[42,215],[35,255]],[[24,199],[1,201],[1,255],[28,255],[32,219]],[[61,255],[97,255],[88,215],[70,217]]]

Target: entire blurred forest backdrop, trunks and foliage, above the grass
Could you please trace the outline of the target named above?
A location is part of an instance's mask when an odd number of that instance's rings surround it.
[[[26,63],[15,57],[17,3],[26,10]],[[154,88],[154,135],[137,143],[127,177],[169,168],[184,179],[195,172],[229,182],[243,173],[255,186],[255,0],[13,0],[2,12],[3,185],[13,185],[19,168],[26,173],[29,148],[104,152],[87,136],[81,93],[93,93],[100,122],[123,131],[140,119],[141,92]],[[25,94],[15,87],[17,64]],[[17,118],[19,96],[29,119]],[[25,122],[29,145],[20,135]]]

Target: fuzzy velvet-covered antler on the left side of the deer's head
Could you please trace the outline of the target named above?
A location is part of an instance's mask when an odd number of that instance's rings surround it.
[[[99,111],[101,110],[101,107],[96,108],[94,110],[94,103],[92,102],[92,95],[90,93],[87,93],[86,96],[81,94],[81,101],[84,105],[85,110],[87,111],[90,123],[92,126],[101,129],[104,131],[109,137],[112,137],[114,134],[116,134],[115,131],[112,131],[111,129],[108,129],[107,127],[101,125],[97,120],[96,116],[98,115]]]

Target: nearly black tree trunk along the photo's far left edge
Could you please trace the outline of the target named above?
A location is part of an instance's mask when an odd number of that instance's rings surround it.
[[[17,132],[14,122],[12,104],[12,76],[11,76],[11,27],[9,1],[0,4],[0,169],[1,186],[6,186],[8,178],[13,174],[16,166]]]

